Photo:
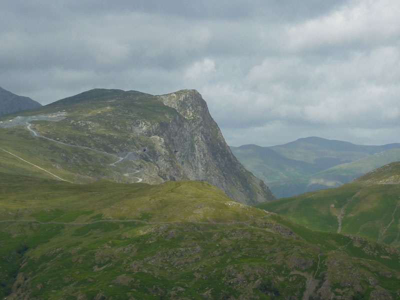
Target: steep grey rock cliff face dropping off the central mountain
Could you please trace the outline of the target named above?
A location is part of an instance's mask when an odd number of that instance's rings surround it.
[[[263,181],[247,171],[232,154],[196,90],[158,97],[181,116],[159,126],[154,133],[162,136],[175,153],[184,174],[192,180],[208,181],[240,202],[252,204],[273,199]]]

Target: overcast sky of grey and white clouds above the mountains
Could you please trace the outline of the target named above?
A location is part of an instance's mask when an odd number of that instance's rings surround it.
[[[230,145],[400,142],[398,0],[0,0],[0,86],[195,88]]]

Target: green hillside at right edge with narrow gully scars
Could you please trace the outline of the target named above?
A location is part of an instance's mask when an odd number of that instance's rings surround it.
[[[256,207],[314,230],[355,234],[400,247],[400,162],[339,187],[281,198]]]

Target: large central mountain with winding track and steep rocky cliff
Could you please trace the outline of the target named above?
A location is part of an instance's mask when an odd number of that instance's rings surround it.
[[[231,153],[196,90],[92,89],[2,121],[6,173],[78,183],[191,179],[239,202],[274,198]]]

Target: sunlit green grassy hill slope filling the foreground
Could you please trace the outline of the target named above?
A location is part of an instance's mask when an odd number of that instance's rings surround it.
[[[311,231],[206,182],[0,173],[9,299],[395,299],[400,253]]]

